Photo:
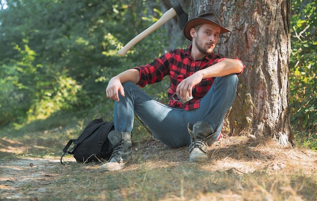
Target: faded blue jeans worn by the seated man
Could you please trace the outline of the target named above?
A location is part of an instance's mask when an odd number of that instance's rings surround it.
[[[114,129],[131,132],[135,112],[153,135],[170,147],[189,145],[188,123],[207,122],[218,133],[215,135],[218,138],[224,115],[235,99],[237,83],[235,73],[217,77],[202,98],[200,108],[189,111],[155,101],[139,86],[132,82],[124,83],[125,97],[119,93],[120,101],[114,104]]]

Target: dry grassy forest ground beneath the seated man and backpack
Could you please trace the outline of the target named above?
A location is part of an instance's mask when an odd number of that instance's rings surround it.
[[[54,141],[51,147],[49,140]],[[127,168],[108,173],[99,173],[100,164],[77,164],[71,156],[60,165],[58,142],[0,139],[0,198],[167,201],[317,196],[317,153],[269,139],[221,139],[209,147],[209,162],[195,164],[188,162],[187,147],[173,149],[147,137],[133,142],[137,157]]]

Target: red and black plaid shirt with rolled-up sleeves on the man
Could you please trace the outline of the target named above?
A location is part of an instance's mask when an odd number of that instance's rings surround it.
[[[185,50],[172,50],[160,58],[154,59],[149,64],[135,67],[135,69],[138,69],[140,72],[140,81],[138,85],[143,88],[147,84],[161,82],[164,76],[169,75],[171,81],[171,87],[168,93],[170,99],[169,105],[185,110],[199,108],[201,99],[209,91],[216,77],[203,79],[200,84],[196,85],[192,91],[193,99],[185,104],[172,99],[172,95],[176,92],[177,85],[184,78],[189,77],[196,71],[214,65],[226,59],[226,57],[212,54],[201,60],[194,61],[190,55],[190,51],[191,46]]]

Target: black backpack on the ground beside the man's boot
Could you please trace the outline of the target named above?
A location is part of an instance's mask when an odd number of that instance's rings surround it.
[[[104,122],[102,118],[92,120],[77,139],[69,140],[64,147],[61,164],[66,153],[73,154],[80,163],[100,162],[102,158],[110,158],[113,149],[108,133],[112,130],[113,122]],[[72,143],[73,147],[68,150]]]

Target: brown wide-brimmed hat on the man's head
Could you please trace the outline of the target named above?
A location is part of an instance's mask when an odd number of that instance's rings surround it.
[[[219,19],[215,13],[203,13],[189,20],[184,26],[184,35],[191,41],[190,29],[200,24],[215,24],[220,27],[220,34],[229,32],[230,30],[219,24]]]

